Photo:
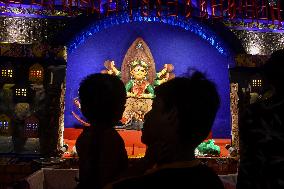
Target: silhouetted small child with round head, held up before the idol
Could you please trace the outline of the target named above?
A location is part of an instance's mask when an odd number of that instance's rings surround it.
[[[102,188],[128,166],[124,141],[114,129],[125,108],[125,87],[117,76],[92,74],[81,82],[79,99],[91,126],[76,141],[78,188]]]

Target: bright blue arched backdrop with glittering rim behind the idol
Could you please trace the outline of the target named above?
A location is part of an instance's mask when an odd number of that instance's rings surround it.
[[[212,29],[194,19],[142,17],[140,14],[134,14],[132,19],[128,14],[119,14],[94,21],[69,43],[65,127],[79,126],[72,111],[76,108],[73,99],[78,96],[82,78],[103,70],[103,62],[108,59],[120,67],[128,47],[137,37],[143,37],[149,44],[158,69],[162,64],[171,63],[177,76],[188,66],[207,73],[216,83],[222,101],[213,137],[231,138],[228,67],[234,66],[234,62],[229,46]],[[75,113],[80,115],[80,112]]]

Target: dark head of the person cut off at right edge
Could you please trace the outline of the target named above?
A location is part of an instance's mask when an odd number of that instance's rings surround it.
[[[284,80],[284,49],[277,50],[271,54],[268,61],[262,66],[262,72],[268,84],[272,85],[277,93],[283,94]]]

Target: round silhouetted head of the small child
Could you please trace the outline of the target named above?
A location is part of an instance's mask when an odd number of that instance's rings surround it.
[[[113,125],[122,117],[126,91],[117,76],[97,73],[87,76],[80,83],[79,99],[81,111],[91,124]]]

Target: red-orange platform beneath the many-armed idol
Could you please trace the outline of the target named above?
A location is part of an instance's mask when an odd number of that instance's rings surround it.
[[[129,163],[139,161],[144,157],[146,146],[141,142],[141,131],[117,129],[123,138],[125,148],[129,157]],[[69,166],[78,168],[78,156],[74,154],[74,145],[76,139],[82,132],[82,129],[65,128],[64,143],[68,145],[68,150],[64,153],[63,159],[69,162]],[[212,133],[205,141],[212,139]],[[235,175],[238,168],[238,159],[230,157],[229,151],[225,148],[227,144],[231,144],[231,139],[214,138],[214,144],[220,147],[219,156],[197,156],[201,162],[211,167],[219,175]]]

